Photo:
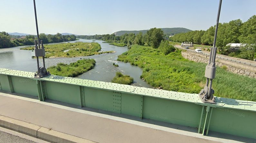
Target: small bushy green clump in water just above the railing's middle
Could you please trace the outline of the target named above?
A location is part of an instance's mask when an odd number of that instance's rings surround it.
[[[116,76],[111,80],[111,82],[130,85],[133,83],[133,78],[129,75],[123,75],[121,72],[116,72]]]

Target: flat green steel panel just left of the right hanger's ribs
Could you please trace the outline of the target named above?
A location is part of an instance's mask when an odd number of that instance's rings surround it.
[[[198,127],[202,106],[154,97],[143,98],[144,118]]]

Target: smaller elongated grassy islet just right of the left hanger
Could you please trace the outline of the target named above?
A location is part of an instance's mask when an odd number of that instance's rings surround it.
[[[95,63],[94,59],[83,59],[70,63],[69,65],[58,63],[57,66],[49,67],[47,70],[49,70],[52,75],[76,77],[92,69]]]

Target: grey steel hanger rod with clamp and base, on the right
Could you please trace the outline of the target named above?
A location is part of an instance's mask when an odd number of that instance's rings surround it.
[[[220,12],[221,12],[221,3],[222,3],[222,0],[220,0],[220,3],[219,3],[214,40],[213,40],[213,47],[211,48],[208,65],[205,67],[204,76],[206,77],[206,85],[204,86],[204,89],[202,89],[199,93],[199,97],[202,100],[202,102],[211,103],[211,104],[215,104],[215,97],[213,96],[214,90],[212,89],[212,83],[216,74],[215,58],[216,58],[217,47],[215,47],[215,44],[216,44],[219,18],[220,18]]]

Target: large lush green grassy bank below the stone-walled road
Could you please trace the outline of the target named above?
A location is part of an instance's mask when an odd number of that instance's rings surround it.
[[[206,82],[206,64],[183,58],[179,50],[164,55],[158,49],[133,45],[128,52],[119,55],[118,60],[143,68],[141,77],[151,86],[162,86],[164,90],[199,93]],[[255,78],[217,67],[214,96],[256,101],[255,83]]]

